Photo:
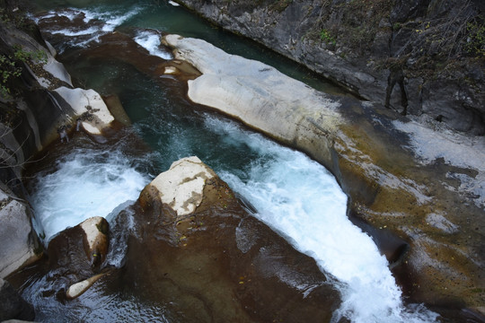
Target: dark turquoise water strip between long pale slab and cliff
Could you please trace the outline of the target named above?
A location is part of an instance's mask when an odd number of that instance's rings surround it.
[[[173,6],[166,1],[35,1],[39,11],[56,8],[79,8],[93,16],[106,20],[110,17],[119,21],[117,31],[130,31],[133,28],[153,29],[166,33],[180,34],[184,37],[205,39],[224,49],[226,52],[246,58],[256,59],[276,67],[280,72],[300,80],[313,88],[346,95],[340,87],[314,74],[302,65],[295,64],[286,57],[260,46],[249,39],[236,37],[208,24],[198,16],[182,7]],[[86,10],[86,7],[89,8]],[[122,18],[123,17],[123,18]]]

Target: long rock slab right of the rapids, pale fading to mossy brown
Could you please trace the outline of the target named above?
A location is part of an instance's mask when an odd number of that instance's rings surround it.
[[[165,42],[174,48],[174,57],[203,73],[189,81],[190,99],[310,154],[340,181],[350,197],[349,215],[409,242],[410,251],[401,254],[401,266],[394,267],[394,273],[412,300],[483,310],[484,204],[483,191],[475,190],[485,171],[481,138],[470,145],[461,139],[461,154],[474,156],[475,162],[467,164],[452,158],[454,142],[433,133],[432,145],[442,149],[430,150],[424,161],[419,148],[426,145],[411,147],[429,142],[431,134],[424,135],[408,119],[392,120],[387,109],[351,98],[308,94],[310,89],[305,90],[308,101],[300,92],[280,95],[280,86],[304,85],[200,39],[169,35]],[[315,101],[315,96],[321,99]],[[474,185],[466,185],[465,178]]]

